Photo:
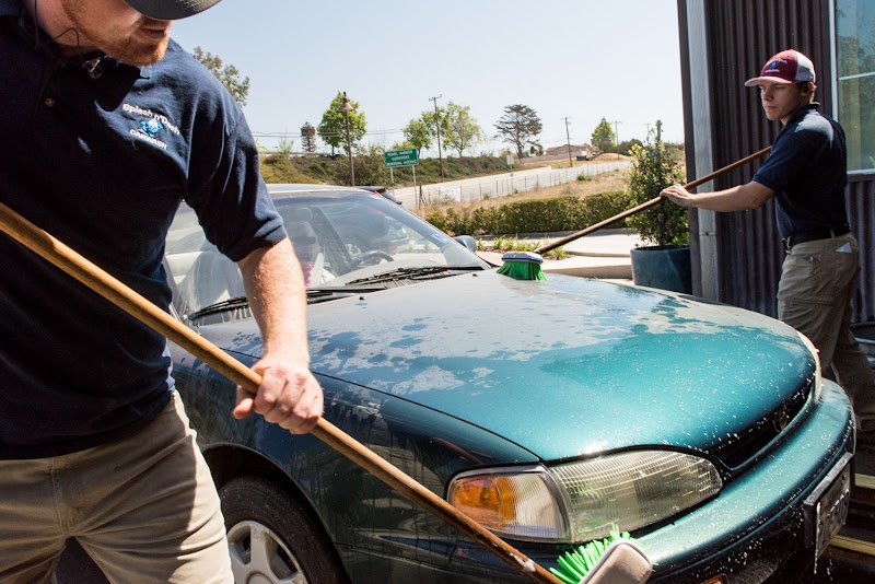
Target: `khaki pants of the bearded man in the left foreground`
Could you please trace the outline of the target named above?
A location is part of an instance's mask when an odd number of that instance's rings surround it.
[[[179,396],[124,440],[0,460],[0,582],[48,582],[68,538],[112,582],[232,583],[219,497]]]

